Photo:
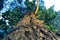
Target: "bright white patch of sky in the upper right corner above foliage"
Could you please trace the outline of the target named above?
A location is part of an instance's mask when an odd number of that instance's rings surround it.
[[[55,5],[54,6],[54,10],[55,11],[59,11],[60,10],[60,0],[44,0],[45,2],[45,6],[48,9],[50,6]]]

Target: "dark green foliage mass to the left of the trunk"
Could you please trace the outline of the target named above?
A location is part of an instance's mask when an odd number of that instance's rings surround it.
[[[16,25],[16,23],[18,23],[18,21],[20,21],[21,18],[23,18],[23,14],[21,13],[20,9],[16,8],[13,11],[9,10],[5,13],[2,13],[2,17],[4,18],[3,20],[0,20],[0,27],[1,28],[9,28],[9,26],[13,26]],[[9,20],[9,25],[6,25],[5,20]],[[7,28],[7,29],[8,29]]]

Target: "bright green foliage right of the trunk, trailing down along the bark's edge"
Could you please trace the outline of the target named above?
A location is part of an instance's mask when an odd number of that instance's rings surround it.
[[[37,18],[39,20],[44,20],[45,26],[55,33],[57,32],[57,29],[54,26],[54,20],[56,16],[57,16],[57,12],[54,11],[53,6],[50,7],[49,9],[46,9],[46,8],[43,9],[40,7],[37,13]]]

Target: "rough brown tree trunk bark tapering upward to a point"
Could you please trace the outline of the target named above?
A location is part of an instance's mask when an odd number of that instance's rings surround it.
[[[3,40],[58,40],[33,13],[26,15]]]

